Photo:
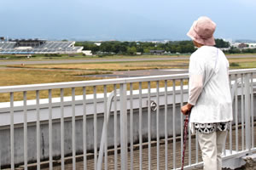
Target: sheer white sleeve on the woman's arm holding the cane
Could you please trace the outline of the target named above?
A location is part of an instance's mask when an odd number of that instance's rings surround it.
[[[189,100],[190,105],[195,105],[201,94],[204,77],[205,77],[205,61],[201,58],[190,58],[189,61]]]

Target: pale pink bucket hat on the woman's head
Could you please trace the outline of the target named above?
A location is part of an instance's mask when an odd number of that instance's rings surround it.
[[[215,45],[213,33],[215,31],[216,24],[207,16],[201,16],[198,20],[195,20],[191,26],[187,36],[189,36],[195,42],[203,45]]]

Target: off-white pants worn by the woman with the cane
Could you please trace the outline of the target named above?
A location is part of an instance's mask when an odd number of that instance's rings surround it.
[[[221,155],[226,135],[227,131],[218,131],[208,134],[198,132],[198,142],[201,147],[204,170],[222,169]]]

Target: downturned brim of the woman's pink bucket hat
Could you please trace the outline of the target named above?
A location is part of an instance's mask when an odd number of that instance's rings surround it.
[[[187,33],[187,36],[190,37],[193,41],[201,43],[202,45],[215,45],[215,40],[213,36],[207,39],[203,39],[195,32],[196,22],[197,20],[194,21],[193,25],[191,26],[190,30]]]

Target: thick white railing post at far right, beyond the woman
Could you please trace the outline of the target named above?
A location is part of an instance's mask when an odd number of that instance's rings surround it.
[[[251,150],[251,125],[250,125],[250,82],[249,74],[245,74],[245,122],[246,122],[246,150]]]

